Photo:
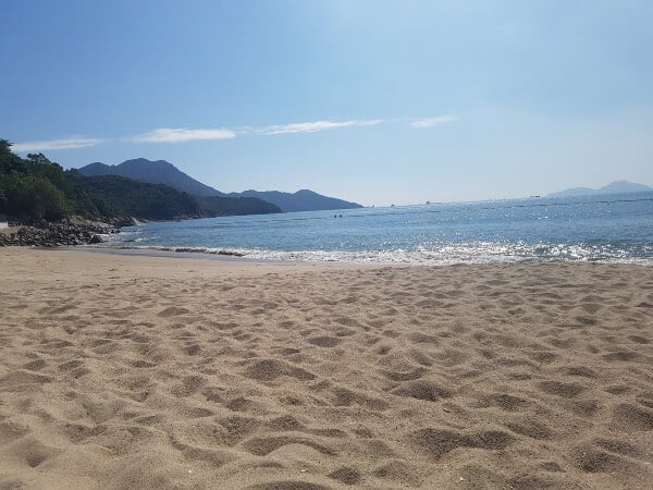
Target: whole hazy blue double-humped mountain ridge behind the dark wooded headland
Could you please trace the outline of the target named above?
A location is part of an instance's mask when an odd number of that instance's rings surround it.
[[[357,203],[323,196],[309,189],[297,191],[294,194],[279,191],[259,192],[254,189],[245,191],[243,193],[224,194],[196,181],[165,160],[151,161],[146,158],[137,158],[123,161],[118,166],[95,162],[82,167],[81,169],[77,169],[77,171],[86,176],[119,175],[148,184],[164,184],[177,191],[183,191],[187,194],[202,198],[219,196],[259,199],[275,205],[283,212],[353,209],[362,207]]]

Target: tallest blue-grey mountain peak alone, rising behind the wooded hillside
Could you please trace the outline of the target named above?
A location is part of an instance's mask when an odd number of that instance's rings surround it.
[[[126,160],[118,166],[95,162],[77,169],[86,176],[119,175],[148,184],[164,184],[194,196],[224,196],[220,191],[209,187],[185,174],[165,160],[151,161],[146,158]]]

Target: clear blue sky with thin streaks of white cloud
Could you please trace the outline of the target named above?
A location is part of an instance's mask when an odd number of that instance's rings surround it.
[[[4,0],[0,138],[366,206],[653,185],[653,1]]]

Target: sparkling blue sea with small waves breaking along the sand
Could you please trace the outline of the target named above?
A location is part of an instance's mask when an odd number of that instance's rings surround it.
[[[653,193],[151,222],[103,246],[294,261],[653,265]]]

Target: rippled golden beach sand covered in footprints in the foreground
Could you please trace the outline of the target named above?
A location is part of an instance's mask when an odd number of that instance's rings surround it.
[[[651,488],[653,268],[0,249],[0,489]]]

